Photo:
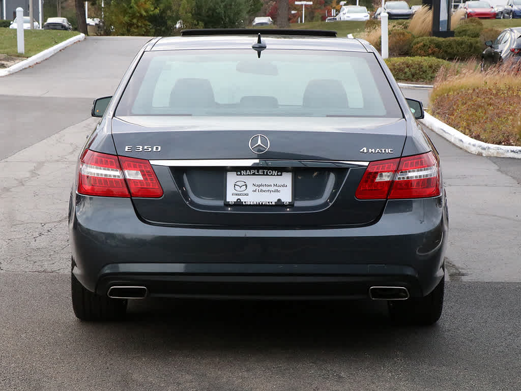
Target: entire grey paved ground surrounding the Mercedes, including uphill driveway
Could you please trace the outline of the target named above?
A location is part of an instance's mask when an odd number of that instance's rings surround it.
[[[123,323],[78,321],[70,184],[92,99],[113,93],[146,40],[89,37],[0,78],[0,389],[521,389],[521,159],[430,132],[450,214],[437,325],[395,325],[381,303],[150,299]]]

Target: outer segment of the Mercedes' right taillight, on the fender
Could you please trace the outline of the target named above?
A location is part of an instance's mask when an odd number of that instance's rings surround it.
[[[403,157],[389,198],[425,198],[440,195],[440,165],[432,152]]]

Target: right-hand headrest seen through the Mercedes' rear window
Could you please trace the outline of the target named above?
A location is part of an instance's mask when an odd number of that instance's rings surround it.
[[[315,79],[307,83],[302,106],[347,109],[349,108],[349,100],[339,80]]]

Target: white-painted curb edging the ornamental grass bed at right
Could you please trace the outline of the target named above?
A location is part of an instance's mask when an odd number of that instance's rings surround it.
[[[489,156],[489,157],[512,157],[521,159],[521,147],[496,145],[483,143],[482,141],[474,140],[469,136],[458,132],[456,129],[450,127],[448,124],[441,122],[439,119],[432,117],[425,113],[425,119],[420,120],[427,128],[433,132],[438,133],[452,144],[465,149],[467,152],[475,155]]]

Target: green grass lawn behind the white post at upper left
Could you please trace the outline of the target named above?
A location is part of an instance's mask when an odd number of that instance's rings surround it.
[[[0,53],[13,57],[31,57],[78,34],[77,31],[23,30],[26,53],[18,54],[16,29],[0,28]]]

